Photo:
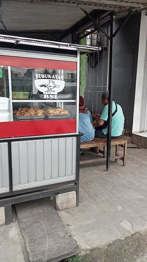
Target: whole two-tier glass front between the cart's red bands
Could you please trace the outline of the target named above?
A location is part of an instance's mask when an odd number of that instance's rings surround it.
[[[13,121],[76,118],[76,71],[11,67]]]

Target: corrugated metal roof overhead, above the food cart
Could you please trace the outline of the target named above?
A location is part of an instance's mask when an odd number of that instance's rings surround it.
[[[130,10],[147,7],[147,0],[5,0],[0,14],[9,34],[10,32],[67,31],[86,18],[80,7],[88,13],[94,10],[115,10],[116,19],[126,16]],[[108,20],[99,19],[100,24]],[[3,30],[0,23],[0,30]],[[33,33],[34,31],[34,33]],[[13,34],[15,35],[15,34]],[[47,39],[47,38],[46,38]]]

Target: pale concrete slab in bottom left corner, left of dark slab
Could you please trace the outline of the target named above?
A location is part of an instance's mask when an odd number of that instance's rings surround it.
[[[0,227],[0,261],[25,262],[15,220]]]

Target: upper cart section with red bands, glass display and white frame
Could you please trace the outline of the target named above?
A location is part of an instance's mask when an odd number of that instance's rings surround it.
[[[77,57],[19,55],[1,56],[0,96],[9,99],[9,117],[1,119],[13,122],[1,137],[78,133]]]

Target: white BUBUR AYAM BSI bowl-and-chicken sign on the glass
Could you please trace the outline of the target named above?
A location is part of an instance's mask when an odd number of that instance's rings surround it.
[[[57,99],[57,94],[64,89],[63,75],[35,74],[35,86],[44,94],[44,98]]]

